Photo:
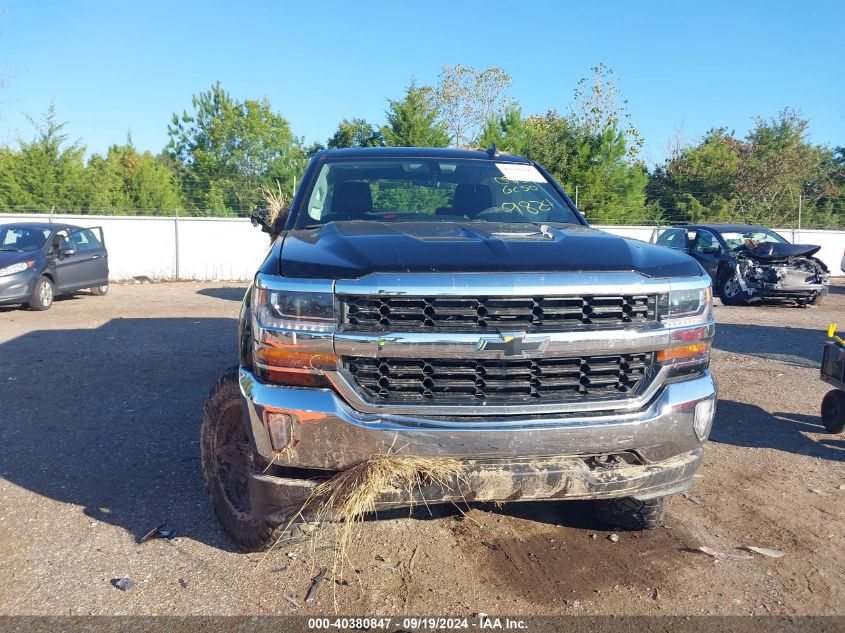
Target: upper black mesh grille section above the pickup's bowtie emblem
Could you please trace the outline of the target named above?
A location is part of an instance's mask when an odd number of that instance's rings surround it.
[[[574,297],[341,296],[342,322],[359,331],[462,330],[519,327],[560,330],[654,320],[649,295]]]

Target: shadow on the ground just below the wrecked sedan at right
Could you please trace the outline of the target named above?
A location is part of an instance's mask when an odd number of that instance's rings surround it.
[[[827,332],[808,328],[718,323],[713,347],[801,367],[821,367]]]

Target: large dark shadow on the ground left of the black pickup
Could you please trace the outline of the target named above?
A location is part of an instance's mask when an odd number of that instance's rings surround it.
[[[166,521],[230,549],[198,440],[208,391],[236,362],[235,328],[223,318],[114,319],[0,345],[0,477],[135,538]]]

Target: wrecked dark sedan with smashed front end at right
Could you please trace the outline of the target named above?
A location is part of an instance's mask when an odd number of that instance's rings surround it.
[[[817,305],[828,292],[830,272],[814,257],[821,246],[790,244],[772,230],[746,224],[697,224],[655,233],[656,244],[698,260],[726,305],[761,299]]]

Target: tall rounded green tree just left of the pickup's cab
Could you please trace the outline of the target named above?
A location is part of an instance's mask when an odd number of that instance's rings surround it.
[[[173,115],[167,146],[192,206],[243,214],[261,201],[261,185],[278,181],[292,193],[301,150],[266,99],[236,101],[218,82],[192,104],[192,114]]]

